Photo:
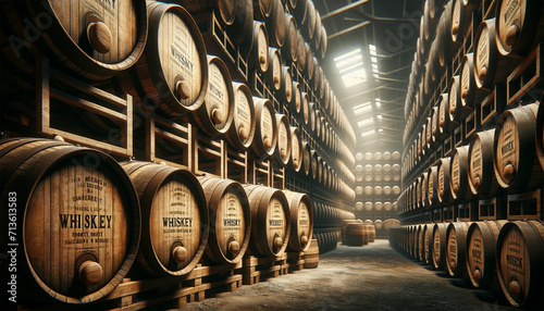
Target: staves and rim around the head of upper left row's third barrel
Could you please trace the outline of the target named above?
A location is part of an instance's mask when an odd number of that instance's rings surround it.
[[[226,101],[227,101],[227,116],[226,120],[220,122],[219,124],[217,121],[213,120],[213,114],[210,115],[208,111],[208,101],[210,101],[210,96],[212,92],[210,90],[207,91],[206,94],[206,99],[205,102],[196,110],[190,113],[190,120],[193,121],[194,124],[198,126],[200,130],[209,135],[210,137],[215,137],[219,135],[223,135],[226,132],[228,132],[228,128],[231,127],[233,120],[234,120],[234,89],[232,87],[233,80],[231,77],[231,73],[228,69],[226,67],[225,63],[218,57],[215,55],[208,55],[208,65],[210,66],[211,64],[215,65],[219,67],[221,71],[221,74],[223,75],[223,79],[225,83],[225,88],[226,88]],[[212,86],[212,76],[211,73],[209,72],[209,83],[208,83],[208,88]],[[213,110],[212,110],[213,113]],[[221,125],[222,124],[222,125]],[[218,125],[221,125],[218,128]]]

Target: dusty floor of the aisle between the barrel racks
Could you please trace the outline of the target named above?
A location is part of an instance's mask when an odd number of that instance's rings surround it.
[[[390,247],[338,245],[307,269],[188,303],[183,310],[516,310]]]

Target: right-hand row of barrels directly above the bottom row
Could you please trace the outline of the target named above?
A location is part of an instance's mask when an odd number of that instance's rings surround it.
[[[399,198],[400,211],[542,188],[543,107],[531,103],[507,110],[496,128],[475,133],[468,146],[438,159],[407,185]]]

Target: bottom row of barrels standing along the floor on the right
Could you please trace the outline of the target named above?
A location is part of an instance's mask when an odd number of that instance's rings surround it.
[[[502,291],[511,306],[542,307],[542,221],[405,225],[390,229],[390,242],[475,288]]]

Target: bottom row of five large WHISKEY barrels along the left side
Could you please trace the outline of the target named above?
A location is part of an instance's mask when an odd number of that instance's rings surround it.
[[[8,176],[1,196],[10,208],[1,220],[16,233],[17,279],[63,302],[96,301],[128,273],[184,275],[205,253],[235,263],[245,253],[304,251],[312,236],[306,194],[119,163],[60,140],[0,140],[0,172]]]

